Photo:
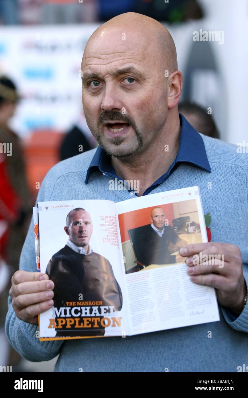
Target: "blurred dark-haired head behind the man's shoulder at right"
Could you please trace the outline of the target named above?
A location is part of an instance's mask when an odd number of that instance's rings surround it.
[[[212,138],[221,138],[213,117],[207,113],[207,109],[196,103],[184,101],[178,104],[178,111],[186,117],[198,133]]]

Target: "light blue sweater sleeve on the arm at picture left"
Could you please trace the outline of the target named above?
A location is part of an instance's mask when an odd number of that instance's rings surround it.
[[[49,181],[49,174],[41,184],[37,197],[38,201],[49,200],[46,198],[46,189]],[[37,203],[36,202],[36,203]],[[21,251],[19,269],[24,271],[36,271],[36,254],[33,230],[33,217],[27,236]],[[48,361],[56,357],[61,350],[63,340],[39,341],[37,336],[38,326],[20,320],[12,307],[12,298],[8,298],[8,312],[5,321],[6,336],[14,349],[25,359],[33,362]]]

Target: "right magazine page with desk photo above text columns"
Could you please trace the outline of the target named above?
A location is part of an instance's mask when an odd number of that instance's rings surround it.
[[[189,279],[186,244],[207,242],[199,187],[115,203],[130,334],[219,320],[215,289]]]

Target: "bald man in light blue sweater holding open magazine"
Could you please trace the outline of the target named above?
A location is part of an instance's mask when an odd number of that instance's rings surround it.
[[[38,341],[37,315],[53,306],[47,294],[53,295],[54,283],[35,272],[31,223],[12,278],[8,339],[29,360],[60,354],[55,371],[78,372],[83,364],[85,372],[236,372],[248,363],[248,155],[197,133],[178,113],[182,73],[173,39],[158,21],[127,13],[103,23],[86,44],[81,70],[84,114],[100,145],[55,165],[37,201],[119,202],[198,185],[213,242],[187,245],[180,254],[186,281],[215,287],[220,322],[126,339]],[[139,192],[109,189],[115,178],[139,180]],[[200,253],[224,255],[223,267],[215,260],[193,264]]]

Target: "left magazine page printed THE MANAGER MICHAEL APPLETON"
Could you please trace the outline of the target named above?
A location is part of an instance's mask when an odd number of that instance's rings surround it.
[[[40,269],[55,287],[40,340],[120,336],[127,330],[125,269],[114,203],[38,203]]]

